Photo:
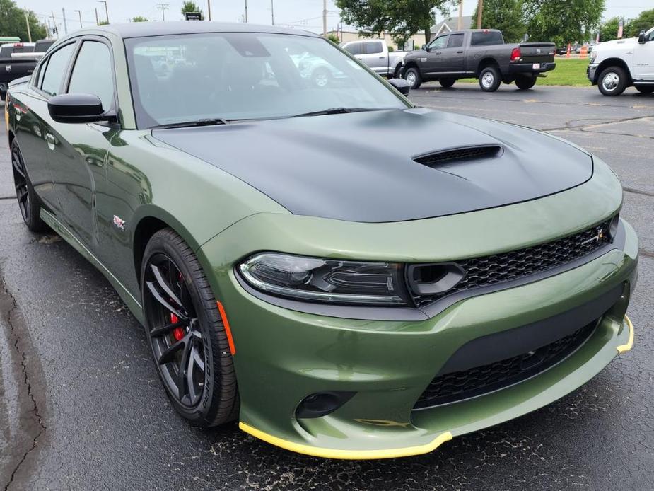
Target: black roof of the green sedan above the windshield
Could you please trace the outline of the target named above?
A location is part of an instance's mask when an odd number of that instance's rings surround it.
[[[170,34],[191,33],[275,33],[317,36],[306,30],[278,28],[274,25],[257,25],[249,23],[228,23],[208,21],[173,21],[173,22],[130,22],[125,24],[108,24],[99,27],[76,31],[81,33],[97,33],[98,30],[113,33],[119,37],[161,36]]]

